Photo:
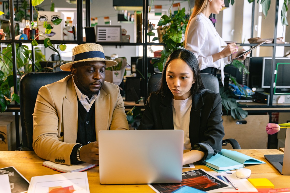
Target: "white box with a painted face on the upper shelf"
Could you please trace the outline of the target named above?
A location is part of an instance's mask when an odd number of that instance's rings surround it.
[[[44,34],[45,28],[43,27],[44,21],[47,21],[51,25],[51,33],[47,35],[39,36],[39,40],[44,40],[45,38],[50,38],[50,40],[63,40],[64,35],[64,14],[61,12],[53,12],[53,11],[39,11],[39,21],[38,21],[38,29],[39,33]],[[62,19],[61,23],[58,25],[54,25],[52,23],[55,19]]]

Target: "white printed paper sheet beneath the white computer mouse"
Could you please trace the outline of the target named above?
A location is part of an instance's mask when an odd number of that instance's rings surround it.
[[[220,180],[223,180],[226,183],[229,183],[233,187],[224,188],[222,192],[258,192],[258,190],[247,180],[236,177],[235,171],[227,172],[208,172],[215,177],[218,177]],[[215,190],[206,191],[209,193],[218,192]],[[220,192],[220,191],[219,191]]]

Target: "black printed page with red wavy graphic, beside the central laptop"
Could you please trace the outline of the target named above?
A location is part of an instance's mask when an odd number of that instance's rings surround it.
[[[203,169],[182,172],[181,183],[148,184],[157,193],[171,193],[186,185],[204,192],[231,187],[222,180],[214,177]]]

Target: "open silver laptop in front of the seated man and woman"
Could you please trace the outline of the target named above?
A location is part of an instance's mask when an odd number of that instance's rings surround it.
[[[183,140],[183,130],[99,131],[100,183],[180,183]]]

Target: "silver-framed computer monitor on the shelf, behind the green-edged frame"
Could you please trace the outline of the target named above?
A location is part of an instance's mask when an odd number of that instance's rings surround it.
[[[275,63],[290,63],[290,58],[280,57],[275,58]],[[262,70],[262,88],[271,87],[271,71],[272,71],[272,58],[263,58],[263,70]],[[290,88],[290,65],[279,65],[278,70],[275,71],[277,75],[276,88],[285,89]]]

